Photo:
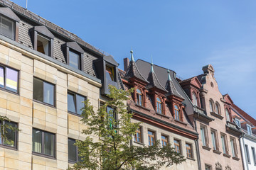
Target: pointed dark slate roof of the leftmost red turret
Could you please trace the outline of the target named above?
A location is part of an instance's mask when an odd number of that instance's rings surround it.
[[[149,81],[147,81],[142,74],[139,72],[139,69],[137,67],[137,64],[134,61],[130,61],[129,62],[129,67],[127,70],[127,73],[125,74],[125,78],[126,79],[130,79],[132,77],[136,77],[138,79],[141,79],[142,81],[145,81],[146,83],[149,83]]]

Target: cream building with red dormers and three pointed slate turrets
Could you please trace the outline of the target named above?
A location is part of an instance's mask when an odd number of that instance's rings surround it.
[[[162,169],[198,169],[196,140],[198,134],[187,119],[186,100],[175,78],[175,72],[142,60],[124,59],[122,81],[124,89],[134,88],[128,110],[134,113],[132,121],[142,122],[132,145],[161,145],[167,143],[181,153],[186,162]],[[176,89],[178,88],[178,89]],[[193,110],[191,110],[193,111]]]

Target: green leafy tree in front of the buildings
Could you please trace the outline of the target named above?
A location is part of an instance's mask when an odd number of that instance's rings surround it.
[[[140,124],[132,123],[132,113],[127,111],[126,101],[132,91],[133,89],[124,91],[110,86],[108,97],[111,100],[97,112],[89,101],[85,101],[81,121],[88,126],[82,130],[87,138],[76,142],[81,160],[70,167],[70,170],[159,169],[161,166],[180,164],[186,160],[170,145],[162,147],[159,141],[154,146],[130,145]],[[107,107],[113,109],[107,111]]]

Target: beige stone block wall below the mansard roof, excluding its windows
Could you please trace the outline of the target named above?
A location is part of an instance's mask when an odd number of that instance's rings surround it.
[[[78,115],[68,113],[68,91],[86,96],[97,110],[101,84],[3,40],[0,63],[19,74],[18,94],[0,89],[0,115],[18,123],[21,130],[16,149],[0,147],[0,169],[67,169],[72,165],[68,163],[68,137],[83,140],[81,130],[86,128]],[[55,107],[33,101],[33,77],[55,85]],[[55,135],[55,158],[32,154],[33,128]]]

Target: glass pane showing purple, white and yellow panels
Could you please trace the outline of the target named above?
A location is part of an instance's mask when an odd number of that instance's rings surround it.
[[[6,89],[18,91],[18,72],[8,67],[6,67]]]

